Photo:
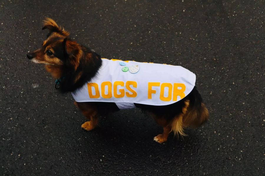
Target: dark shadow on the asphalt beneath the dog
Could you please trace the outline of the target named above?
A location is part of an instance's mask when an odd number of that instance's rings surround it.
[[[124,154],[120,157],[136,160],[152,160],[153,157],[162,160],[172,156],[184,159],[196,155],[204,145],[205,139],[200,137],[198,130],[186,129],[187,136],[184,137],[171,133],[167,142],[159,144],[153,137],[162,132],[163,128],[152,118],[138,111],[133,114],[131,111],[123,111],[101,118],[99,127],[87,132],[87,135],[93,138],[93,147],[102,148],[106,153]]]

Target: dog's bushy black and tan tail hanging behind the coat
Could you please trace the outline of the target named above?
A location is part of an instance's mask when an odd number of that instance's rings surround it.
[[[202,103],[201,95],[196,87],[193,88],[191,93],[187,95],[184,100],[182,112],[175,116],[172,122],[172,131],[174,134],[185,136],[183,128],[185,127],[199,127],[209,118],[209,112]]]

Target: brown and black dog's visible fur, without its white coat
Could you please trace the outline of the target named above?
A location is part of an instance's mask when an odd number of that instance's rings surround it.
[[[42,48],[27,54],[27,57],[34,63],[45,64],[47,72],[59,80],[59,90],[62,93],[75,92],[97,74],[102,65],[101,57],[90,48],[71,40],[69,32],[54,20],[46,18],[43,24],[42,29],[49,29],[48,38],[42,43]],[[99,115],[119,110],[115,103],[75,101],[74,104],[89,119],[81,126],[85,130],[92,130],[97,126]],[[154,138],[158,143],[165,142],[171,131],[185,135],[183,128],[198,127],[209,117],[196,87],[185,98],[170,105],[135,103],[135,106],[148,112],[163,127],[163,133]]]

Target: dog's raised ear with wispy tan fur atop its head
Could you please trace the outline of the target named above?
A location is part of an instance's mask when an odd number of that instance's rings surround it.
[[[49,29],[50,33],[58,32],[64,36],[69,36],[69,32],[65,31],[64,28],[57,25],[57,23],[51,18],[45,18],[43,20],[43,29]]]

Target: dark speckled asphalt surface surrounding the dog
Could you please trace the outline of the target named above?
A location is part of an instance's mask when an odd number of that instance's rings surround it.
[[[0,2],[1,175],[265,175],[264,1]],[[196,74],[210,120],[164,144],[139,109],[85,118],[26,54],[53,18],[104,58]]]

